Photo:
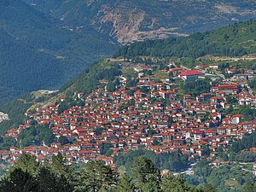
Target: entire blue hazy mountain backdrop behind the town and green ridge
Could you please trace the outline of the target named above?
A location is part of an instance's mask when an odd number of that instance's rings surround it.
[[[255,17],[254,1],[0,2],[0,105],[57,89],[119,44],[184,36]]]

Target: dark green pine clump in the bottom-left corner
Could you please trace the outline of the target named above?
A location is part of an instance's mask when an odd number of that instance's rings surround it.
[[[73,191],[69,182],[71,166],[65,166],[61,155],[52,164],[40,164],[28,154],[11,167],[0,182],[0,191]]]

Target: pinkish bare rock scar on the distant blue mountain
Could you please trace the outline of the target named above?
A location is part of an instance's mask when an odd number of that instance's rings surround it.
[[[102,16],[98,16],[101,14]],[[167,38],[168,35],[172,34],[187,35],[174,32],[177,27],[160,26],[158,20],[132,3],[121,2],[115,4],[114,8],[108,4],[103,4],[91,24],[96,26],[97,31],[108,33],[109,37],[117,39],[119,44],[130,44],[145,39]]]

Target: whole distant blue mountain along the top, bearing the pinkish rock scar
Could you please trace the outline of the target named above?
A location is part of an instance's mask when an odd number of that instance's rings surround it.
[[[256,17],[253,0],[26,0],[63,25],[90,25],[120,44],[210,31]]]

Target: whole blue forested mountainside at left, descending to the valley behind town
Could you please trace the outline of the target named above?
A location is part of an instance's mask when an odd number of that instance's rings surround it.
[[[57,89],[116,49],[94,29],[64,28],[23,1],[1,1],[0,11],[0,105],[32,90]]]

